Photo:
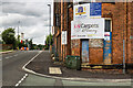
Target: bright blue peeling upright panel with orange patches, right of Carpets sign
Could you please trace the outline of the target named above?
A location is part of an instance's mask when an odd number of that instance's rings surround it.
[[[110,32],[110,40],[104,40],[104,47],[103,47],[103,61],[104,64],[111,64],[112,59],[112,33]]]

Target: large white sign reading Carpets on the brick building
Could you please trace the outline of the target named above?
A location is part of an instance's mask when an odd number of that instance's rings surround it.
[[[104,38],[104,19],[85,19],[71,22],[71,40]]]

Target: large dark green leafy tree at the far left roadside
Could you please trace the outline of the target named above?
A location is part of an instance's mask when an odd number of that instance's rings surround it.
[[[16,43],[16,37],[14,37],[14,29],[9,28],[2,32],[2,40],[6,44],[12,44],[13,48],[16,48],[17,43]]]

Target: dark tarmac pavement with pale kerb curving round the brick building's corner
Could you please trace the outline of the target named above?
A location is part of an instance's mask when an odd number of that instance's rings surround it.
[[[61,69],[62,74],[50,74],[50,67],[58,67]],[[130,74],[105,74],[105,73],[92,73],[89,70],[76,70],[69,69],[62,65],[53,64],[50,57],[50,53],[48,51],[42,52],[34,59],[29,62],[27,66],[24,66],[27,72],[32,74],[37,74],[44,77],[52,78],[62,78],[62,79],[72,79],[72,80],[91,80],[91,81],[102,81],[108,79],[117,79],[119,80],[129,80],[132,78]],[[91,79],[90,79],[91,78]]]

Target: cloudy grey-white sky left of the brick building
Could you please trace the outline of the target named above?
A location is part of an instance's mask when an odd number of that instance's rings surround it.
[[[34,44],[44,44],[49,34],[49,10],[51,4],[51,26],[53,25],[52,0],[0,0],[0,32],[16,29],[16,36],[24,33]]]

